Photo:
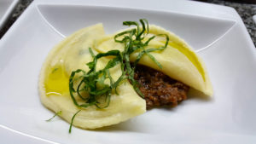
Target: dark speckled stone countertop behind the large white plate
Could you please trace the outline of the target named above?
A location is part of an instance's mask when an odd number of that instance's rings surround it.
[[[252,37],[254,45],[256,46],[256,24],[253,22],[253,15],[256,14],[256,4],[224,2],[223,0],[207,0],[206,2],[225,5],[236,9],[247,27],[247,31]],[[20,3],[16,6],[14,13],[0,30],[0,38],[3,37],[4,33],[8,31],[9,27],[12,26],[15,20],[17,20],[20,14],[23,13],[30,3],[32,3],[32,0],[20,0]]]

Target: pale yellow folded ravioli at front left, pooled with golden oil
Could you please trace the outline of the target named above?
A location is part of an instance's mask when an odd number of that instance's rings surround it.
[[[80,110],[73,104],[68,90],[68,78],[78,68],[88,70],[85,64],[91,59],[88,48],[95,48],[96,38],[102,37],[102,24],[90,26],[65,38],[52,49],[44,62],[40,73],[39,93],[42,103],[54,112],[61,111],[60,117],[71,123],[74,113]],[[96,52],[96,51],[95,51]],[[101,68],[106,59],[98,62]],[[118,78],[121,70],[113,67],[113,79]],[[119,95],[113,94],[108,107],[98,109],[95,106],[82,108],[74,118],[73,125],[84,129],[96,129],[107,125],[118,124],[146,112],[143,98],[137,95],[126,80],[117,89]]]

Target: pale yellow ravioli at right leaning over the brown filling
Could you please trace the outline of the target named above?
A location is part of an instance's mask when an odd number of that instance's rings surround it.
[[[189,85],[197,92],[201,92],[204,96],[212,96],[212,84],[207,74],[207,68],[201,58],[189,47],[188,43],[185,43],[183,39],[177,37],[172,32],[168,32],[160,26],[154,25],[149,26],[147,37],[162,34],[166,34],[170,38],[167,48],[162,51],[150,53],[160,62],[162,68],[157,66],[148,55],[143,55],[139,64],[163,72],[170,78],[183,82],[183,84]],[[102,53],[113,49],[124,49],[122,44],[114,42],[113,37],[115,35],[116,33],[112,36],[102,37],[97,43],[96,50]],[[158,36],[150,41],[146,49],[160,48],[164,45],[165,40],[165,37]],[[137,55],[138,53],[132,54],[131,61],[136,60]]]

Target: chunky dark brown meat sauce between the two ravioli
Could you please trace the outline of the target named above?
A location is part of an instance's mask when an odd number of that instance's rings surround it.
[[[189,86],[166,76],[148,66],[137,65],[134,74],[145,96],[147,109],[161,106],[176,106],[187,99]]]

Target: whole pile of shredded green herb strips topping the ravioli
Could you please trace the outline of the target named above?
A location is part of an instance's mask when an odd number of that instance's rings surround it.
[[[88,72],[85,72],[82,69],[78,69],[76,71],[73,71],[69,78],[69,92],[74,105],[76,105],[77,107],[84,108],[89,106],[96,106],[100,109],[108,107],[110,103],[111,94],[114,92],[118,95],[117,87],[125,79],[128,79],[130,81],[130,83],[133,86],[133,89],[137,91],[138,95],[144,97],[143,93],[138,88],[137,81],[134,79],[134,71],[137,66],[137,63],[143,57],[143,55],[148,55],[148,57],[151,60],[153,60],[157,66],[162,68],[160,63],[154,58],[153,55],[150,54],[150,52],[166,49],[167,44],[169,42],[169,37],[165,34],[158,35],[166,37],[165,45],[160,48],[145,49],[145,47],[148,46],[148,43],[156,36],[152,36],[148,39],[145,39],[149,32],[148,20],[141,19],[139,21],[141,23],[142,28],[140,27],[137,21],[124,21],[124,26],[136,27],[131,28],[130,30],[127,30],[125,32],[120,32],[119,34],[114,36],[114,41],[116,43],[124,44],[123,51],[110,50],[106,53],[99,53],[95,55],[92,49],[89,48],[90,55],[92,56],[93,60],[87,63],[86,65],[89,67],[90,70]],[[138,55],[137,59],[131,65],[130,55],[134,52],[138,52]],[[106,56],[112,56],[113,59],[109,60],[104,68],[96,71],[97,60]],[[110,75],[109,70],[117,65],[120,66],[122,74],[116,81],[114,81]],[[110,84],[105,83],[105,81],[107,80],[109,80]],[[75,82],[76,85],[78,83],[76,88],[74,88]],[[79,98],[84,101],[84,103],[79,103],[77,101],[77,98],[75,98],[75,95],[78,95]],[[100,102],[102,98],[105,100],[104,102]],[[70,131],[72,124],[70,125]]]

